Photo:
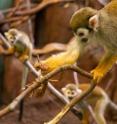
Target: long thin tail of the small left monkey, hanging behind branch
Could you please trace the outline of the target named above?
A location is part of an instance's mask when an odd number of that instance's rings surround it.
[[[22,74],[22,81],[21,81],[21,91],[23,91],[25,89],[25,85],[26,85],[27,77],[28,77],[28,72],[29,72],[29,69],[24,65],[23,74]],[[22,121],[23,111],[24,111],[24,99],[21,100],[20,105],[19,105],[19,118],[18,118],[19,121]]]

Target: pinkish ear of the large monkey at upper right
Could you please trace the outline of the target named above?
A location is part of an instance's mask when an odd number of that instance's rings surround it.
[[[93,29],[94,31],[98,30],[99,27],[99,17],[98,15],[94,15],[89,19],[89,27]]]

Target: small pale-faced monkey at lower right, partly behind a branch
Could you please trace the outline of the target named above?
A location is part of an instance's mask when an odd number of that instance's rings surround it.
[[[62,92],[68,100],[71,100],[76,95],[81,95],[81,93],[89,87],[90,84],[86,83],[80,84],[79,87],[75,84],[67,84],[62,88]],[[82,124],[89,124],[90,116],[87,110],[88,105],[91,105],[93,108],[93,115],[97,124],[106,124],[104,112],[108,105],[117,110],[117,105],[114,104],[104,90],[98,86],[96,86],[93,92],[77,106],[81,109],[83,114]]]

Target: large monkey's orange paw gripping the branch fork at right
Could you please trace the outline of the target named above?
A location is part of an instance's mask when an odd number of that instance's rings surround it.
[[[99,82],[105,73],[102,69],[96,68],[91,71],[91,74],[93,75],[93,80],[95,80],[96,82]]]

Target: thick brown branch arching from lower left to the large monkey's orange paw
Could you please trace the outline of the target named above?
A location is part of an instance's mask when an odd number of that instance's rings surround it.
[[[41,77],[40,79],[38,78],[33,84],[31,84],[26,90],[24,90],[21,94],[19,94],[19,96],[17,96],[13,102],[11,104],[9,104],[6,108],[2,109],[0,111],[0,117],[8,114],[9,112],[13,111],[17,105],[20,103],[20,101],[26,97],[29,93],[31,93],[33,90],[35,90],[37,87],[41,86],[41,84],[45,83],[48,79],[50,79],[51,77],[53,77],[54,75],[56,75],[57,73],[59,72],[62,72],[62,71],[65,71],[65,70],[73,70],[73,71],[76,71],[76,72],[79,72],[80,74],[82,75],[85,75],[87,77],[92,77],[92,76],[89,76],[90,74],[86,74],[83,73],[83,70],[81,71],[81,69],[79,70],[79,68],[77,67],[74,67],[73,65],[65,65],[65,66],[62,66],[62,67],[59,67],[58,69],[55,69],[53,70],[52,72],[48,73],[47,75],[45,75],[44,77]],[[82,73],[81,73],[82,72]],[[82,96],[84,98],[84,96]],[[83,99],[82,98],[82,99]],[[81,99],[81,100],[82,100]],[[69,104],[68,104],[69,105]],[[68,109],[67,109],[68,110]]]

